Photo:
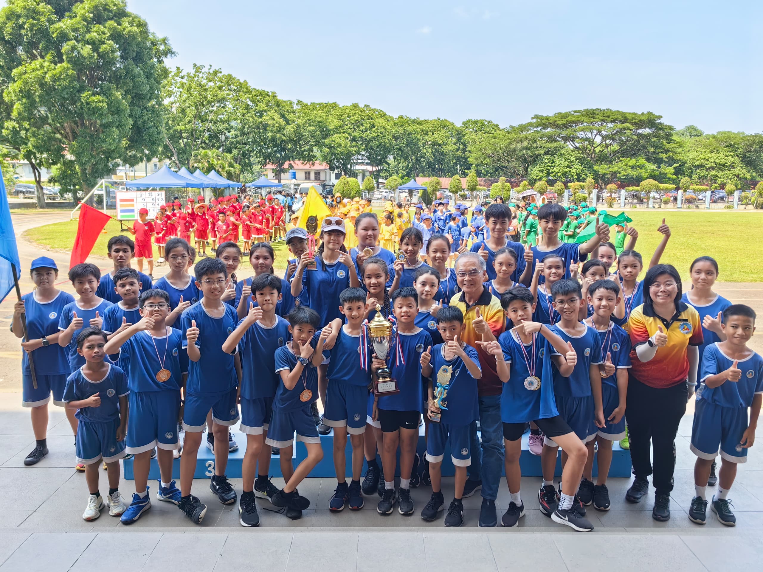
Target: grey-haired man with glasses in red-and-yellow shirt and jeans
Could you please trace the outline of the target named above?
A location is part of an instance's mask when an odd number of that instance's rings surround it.
[[[485,352],[476,342],[497,339],[504,332],[506,317],[501,300],[482,285],[488,280],[485,267],[485,259],[475,252],[464,252],[456,259],[456,281],[461,292],[450,299],[449,306],[459,308],[464,314],[465,330],[462,339],[477,349],[482,369],[482,377],[477,381],[482,456],[472,455],[472,466],[469,468],[469,479],[463,496],[471,496],[475,489],[481,487],[479,525],[495,526],[498,523],[495,499],[504,467],[502,384],[496,371],[495,356]],[[472,426],[472,448],[478,450],[476,423]]]

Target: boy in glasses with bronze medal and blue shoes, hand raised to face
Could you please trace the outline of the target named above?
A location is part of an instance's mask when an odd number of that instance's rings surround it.
[[[156,499],[180,504],[180,490],[172,480],[172,451],[179,445],[180,389],[188,375],[188,354],[182,349],[182,335],[166,325],[167,293],[158,289],[143,292],[139,305],[140,321],[115,333],[105,346],[108,354],[119,355],[130,390],[127,453],[134,455],[135,493],[121,516],[126,525],[151,508],[147,484],[154,447],[159,448],[161,475]]]

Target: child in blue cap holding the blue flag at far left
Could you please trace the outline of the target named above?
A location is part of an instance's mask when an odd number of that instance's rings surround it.
[[[69,360],[66,348],[59,345],[58,337],[61,330],[58,322],[61,310],[66,304],[74,301],[72,294],[58,290],[53,284],[58,278],[58,267],[53,259],[45,256],[34,259],[31,265],[31,278],[34,291],[24,294],[21,301],[13,307],[13,323],[11,329],[15,336],[24,339],[24,328],[21,325],[21,314],[27,318],[27,341],[21,342],[24,349],[21,355],[22,397],[21,405],[31,408],[32,430],[37,443],[34,449],[24,458],[25,465],[36,464],[48,453],[47,448],[47,404],[50,394],[53,403],[63,405],[63,390],[66,378],[69,376]],[[32,379],[30,358],[34,361],[35,378]],[[37,382],[37,387],[35,386]],[[72,432],[77,434],[77,419],[75,410],[64,408]]]

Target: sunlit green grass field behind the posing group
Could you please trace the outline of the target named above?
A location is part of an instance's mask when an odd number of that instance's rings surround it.
[[[620,212],[610,209],[612,214]],[[730,282],[763,282],[763,211],[752,210],[645,210],[626,211],[633,218],[633,227],[639,230],[636,250],[648,263],[662,235],[657,227],[665,222],[671,227],[671,239],[662,262],[678,268],[681,277],[688,278],[691,261],[700,255],[709,255],[720,265],[720,280]],[[119,224],[112,220],[106,233],[95,243],[93,253],[105,256],[110,236],[118,234]],[[77,221],[48,224],[27,230],[24,237],[43,248],[69,251],[74,244]],[[275,243],[275,270],[286,268],[288,251],[283,243]],[[154,258],[157,257],[156,247]],[[242,261],[242,272],[249,271],[249,261]]]

